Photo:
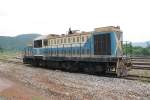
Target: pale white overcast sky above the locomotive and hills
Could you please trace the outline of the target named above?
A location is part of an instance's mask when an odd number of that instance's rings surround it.
[[[0,36],[63,34],[119,25],[124,40],[150,40],[149,0],[0,0]]]

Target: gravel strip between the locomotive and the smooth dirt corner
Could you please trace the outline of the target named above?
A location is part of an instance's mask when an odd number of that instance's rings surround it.
[[[150,100],[150,83],[0,61],[0,73],[36,88],[51,99]],[[56,98],[54,98],[56,97]]]

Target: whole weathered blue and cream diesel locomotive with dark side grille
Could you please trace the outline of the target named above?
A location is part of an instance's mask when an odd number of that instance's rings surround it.
[[[24,63],[69,71],[126,76],[130,59],[123,56],[120,27],[95,28],[91,32],[69,29],[68,34],[49,34],[25,48]]]

